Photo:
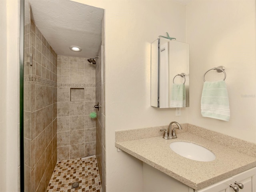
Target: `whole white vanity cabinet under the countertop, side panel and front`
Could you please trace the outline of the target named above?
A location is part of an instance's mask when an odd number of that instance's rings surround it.
[[[152,166],[143,163],[144,192],[234,192],[230,184],[237,186],[235,182],[244,185],[243,189],[239,188],[239,192],[256,192],[256,167],[206,188],[194,190]]]

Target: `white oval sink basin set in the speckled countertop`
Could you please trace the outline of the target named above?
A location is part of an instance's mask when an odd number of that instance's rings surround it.
[[[177,154],[196,161],[213,161],[216,156],[208,149],[194,143],[176,141],[170,144],[170,148]]]

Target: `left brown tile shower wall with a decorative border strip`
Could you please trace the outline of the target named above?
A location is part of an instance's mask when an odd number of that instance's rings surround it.
[[[34,22],[26,32],[30,48],[25,47],[24,63],[25,191],[43,192],[57,162],[57,55]],[[32,66],[26,62],[30,52]]]

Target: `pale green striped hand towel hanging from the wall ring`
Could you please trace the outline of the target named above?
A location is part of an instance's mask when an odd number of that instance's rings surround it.
[[[204,82],[201,98],[201,114],[203,117],[229,121],[228,90],[224,80]]]

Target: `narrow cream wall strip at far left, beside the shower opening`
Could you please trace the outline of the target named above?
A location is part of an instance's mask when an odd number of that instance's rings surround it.
[[[18,191],[19,2],[0,0],[0,191]]]

